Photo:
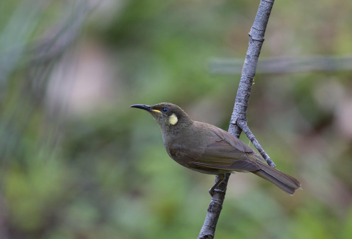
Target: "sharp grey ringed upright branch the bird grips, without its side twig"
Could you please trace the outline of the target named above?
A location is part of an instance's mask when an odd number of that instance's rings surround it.
[[[230,127],[228,129],[228,132],[237,138],[239,138],[243,130],[237,124],[237,122],[247,121],[247,108],[249,96],[251,94],[251,87],[253,84],[254,75],[256,74],[260,49],[262,49],[264,41],[266,25],[268,24],[273,4],[274,0],[260,1],[256,18],[254,19],[253,26],[249,32],[250,39],[248,44],[248,50],[242,68],[242,74],[238,86],[235,105],[230,120]],[[216,223],[218,222],[222,209],[222,204],[224,203],[226,186],[229,176],[230,174],[226,174],[225,180],[218,187],[218,189],[220,190],[216,191],[213,194],[212,199],[210,200],[207,215],[198,236],[199,239],[214,238]],[[216,176],[216,180],[219,180],[218,176]]]

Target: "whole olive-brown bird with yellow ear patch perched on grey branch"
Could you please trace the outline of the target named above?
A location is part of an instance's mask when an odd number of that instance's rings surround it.
[[[244,142],[214,125],[191,120],[175,104],[136,104],[130,107],[152,114],[160,126],[166,151],[173,160],[197,172],[220,177],[221,180],[210,188],[211,195],[226,173],[235,172],[256,174],[289,195],[301,188],[301,183],[294,177],[259,161],[264,160]]]

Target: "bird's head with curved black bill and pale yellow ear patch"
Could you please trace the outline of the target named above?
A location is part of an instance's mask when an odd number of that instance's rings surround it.
[[[155,105],[136,104],[130,107],[149,111],[162,131],[174,131],[192,123],[190,117],[179,106],[171,103]]]

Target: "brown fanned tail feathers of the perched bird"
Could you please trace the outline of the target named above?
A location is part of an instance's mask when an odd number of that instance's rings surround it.
[[[257,163],[260,164],[260,169],[251,173],[254,173],[259,177],[274,183],[278,188],[283,190],[288,195],[292,196],[295,194],[296,190],[302,189],[301,183],[294,177],[291,177],[290,175],[272,168],[260,161],[257,161]]]

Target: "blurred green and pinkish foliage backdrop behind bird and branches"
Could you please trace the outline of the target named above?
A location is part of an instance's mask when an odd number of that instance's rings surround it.
[[[196,238],[212,175],[172,161],[172,102],[228,129],[259,1],[0,1],[0,238]],[[352,54],[352,2],[275,1],[264,57]],[[248,124],[290,197],[230,177],[216,238],[352,237],[352,71],[257,73]],[[249,140],[241,136],[244,142]]]

